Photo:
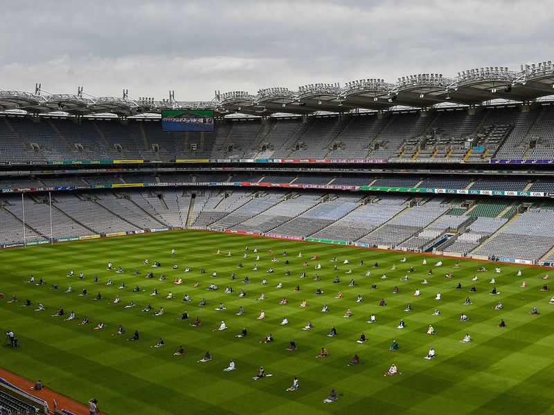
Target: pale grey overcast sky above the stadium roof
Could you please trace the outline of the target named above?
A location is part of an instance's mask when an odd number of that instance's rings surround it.
[[[0,88],[213,91],[554,59],[551,1],[1,1]]]

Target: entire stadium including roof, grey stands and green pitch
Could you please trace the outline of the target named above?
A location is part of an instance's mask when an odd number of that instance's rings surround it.
[[[0,89],[0,414],[551,413],[553,63],[260,88]]]

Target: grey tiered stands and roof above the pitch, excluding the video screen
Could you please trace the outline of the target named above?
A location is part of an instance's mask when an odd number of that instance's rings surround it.
[[[554,263],[554,66],[216,93],[0,91],[0,245],[210,229]],[[163,132],[167,109],[216,129]]]

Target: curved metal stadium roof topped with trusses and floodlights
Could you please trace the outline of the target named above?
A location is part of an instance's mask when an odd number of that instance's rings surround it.
[[[114,114],[119,117],[161,113],[163,109],[213,109],[219,116],[242,113],[269,116],[274,113],[307,115],[321,111],[345,113],[356,110],[384,110],[393,107],[425,109],[440,104],[480,105],[492,100],[530,102],[554,95],[554,64],[551,61],[521,65],[520,71],[490,66],[467,69],[448,78],[437,73],[418,73],[389,83],[366,79],[340,84],[308,84],[298,91],[287,88],[260,89],[256,95],[245,91],[216,93],[211,101],[180,102],[170,93],[169,100],[134,100],[127,91],[123,98],[96,98],[84,94],[44,95],[39,85],[35,93],[0,89],[0,111],[69,115]]]

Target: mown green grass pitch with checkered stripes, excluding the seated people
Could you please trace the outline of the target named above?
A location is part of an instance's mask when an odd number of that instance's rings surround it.
[[[242,258],[245,246],[250,251]],[[259,261],[252,252],[255,247]],[[177,250],[175,260],[170,255],[172,248]],[[221,255],[214,255],[217,249]],[[271,249],[278,263],[270,261]],[[283,264],[283,250],[289,252],[289,265]],[[232,256],[226,257],[229,251]],[[303,258],[297,257],[299,251]],[[312,255],[319,259],[310,260]],[[330,262],[335,256],[339,259],[337,272]],[[48,387],[82,402],[96,396],[100,409],[109,414],[552,413],[554,305],[548,304],[551,293],[539,291],[549,283],[540,279],[546,270],[502,264],[497,275],[494,264],[460,261],[460,268],[454,269],[456,259],[444,258],[444,265],[436,267],[436,257],[405,256],[407,261],[401,263],[404,255],[398,252],[193,231],[3,250],[0,291],[6,299],[0,301],[0,329],[15,331],[21,347],[1,348],[1,364],[27,378],[41,378]],[[142,265],[145,258],[151,264],[160,261],[161,268]],[[349,265],[342,264],[346,258]],[[422,264],[424,258],[429,264]],[[358,266],[360,259],[365,266]],[[120,275],[107,270],[109,261],[126,272]],[[304,261],[309,263],[307,268],[302,266]],[[376,261],[379,268],[371,268]],[[237,268],[239,262],[244,268]],[[255,262],[258,271],[252,270]],[[314,270],[317,262],[321,270]],[[172,270],[174,263],[178,270]],[[391,270],[393,264],[396,270]],[[488,268],[487,273],[476,272],[481,265]],[[192,272],[184,273],[186,266]],[[410,266],[415,273],[409,274],[408,282],[401,282]],[[270,267],[275,273],[265,272]],[[134,275],[135,268],[141,275]],[[200,275],[201,268],[206,269],[205,275]],[[348,268],[352,269],[350,275],[346,274]],[[434,271],[431,277],[429,268]],[[75,275],[82,271],[85,279],[66,277],[70,269]],[[285,277],[287,269],[292,273],[289,277]],[[523,272],[521,277],[516,276],[518,269]],[[150,270],[155,278],[145,279]],[[211,277],[214,270],[217,277]],[[303,270],[307,277],[300,279]],[[369,277],[365,276],[367,270],[372,271]],[[238,281],[231,282],[233,271]],[[454,278],[445,277],[449,271]],[[316,272],[320,282],[313,280]],[[161,273],[167,275],[166,281],[159,281]],[[388,279],[380,278],[383,273]],[[31,274],[35,279],[42,277],[45,284],[25,283]],[[477,292],[468,293],[474,274],[479,277],[474,283]],[[94,275],[100,282],[93,282]],[[240,282],[246,275],[252,284]],[[336,275],[339,284],[332,283]],[[183,278],[184,284],[172,284],[175,277]],[[500,295],[489,295],[492,277],[497,279]],[[114,285],[105,285],[109,278]],[[267,278],[266,286],[260,285],[263,278]],[[358,285],[348,287],[350,278]],[[424,278],[429,285],[420,284]],[[524,280],[527,288],[520,287]],[[199,288],[191,288],[195,281],[200,282]],[[120,282],[127,288],[118,289]],[[217,284],[217,291],[206,291],[211,282]],[[278,282],[283,282],[283,288],[276,288]],[[461,290],[454,289],[458,282]],[[59,284],[60,289],[50,289],[52,284]],[[301,287],[298,293],[294,292],[296,284]],[[370,289],[371,284],[377,284],[377,289]],[[66,294],[69,285],[73,293]],[[143,292],[133,293],[135,285]],[[233,286],[235,293],[224,294],[226,286]],[[400,293],[392,293],[394,286],[399,286]],[[150,296],[154,287],[159,291],[157,297]],[[325,291],[323,295],[314,295],[318,287]],[[87,288],[89,295],[78,296],[82,288]],[[240,288],[247,291],[247,297],[238,297]],[[412,296],[416,288],[421,290],[420,297]],[[339,290],[343,298],[336,299]],[[92,301],[98,291],[103,299]],[[166,299],[168,291],[176,298]],[[438,291],[443,295],[440,301],[434,299]],[[260,293],[267,299],[254,301]],[[19,302],[8,304],[13,294]],[[193,301],[182,302],[185,294]],[[355,302],[358,294],[363,295],[361,303]],[[116,295],[120,295],[120,304],[109,304]],[[463,305],[467,295],[472,305]],[[207,301],[204,307],[197,305],[202,297]],[[287,305],[278,304],[282,297],[287,297]],[[21,307],[27,298],[33,306]],[[378,306],[381,298],[387,306]],[[301,308],[304,299],[308,305]],[[131,300],[136,307],[125,309]],[[493,310],[499,301],[503,310]],[[48,309],[35,312],[38,302]],[[154,311],[163,306],[165,315],[141,312],[148,302]],[[220,302],[226,311],[214,310]],[[328,304],[328,313],[320,312],[323,303]],[[411,303],[411,312],[404,311],[407,303]],[[66,313],[75,311],[77,320],[51,317],[58,306]],[[245,309],[242,316],[235,315],[239,306]],[[540,315],[529,314],[533,306]],[[350,318],[343,317],[347,308],[353,313]],[[435,308],[440,315],[432,315]],[[266,313],[265,320],[256,319],[261,310]],[[190,320],[176,320],[184,311]],[[471,318],[469,322],[459,320],[462,312]],[[366,322],[371,313],[377,317],[376,324]],[[91,320],[89,326],[78,325],[84,315]],[[202,326],[190,326],[197,316]],[[289,324],[280,326],[284,316]],[[497,327],[501,318],[506,321],[504,329]],[[396,328],[400,319],[406,322],[405,329]],[[221,320],[229,329],[214,332]],[[314,329],[303,331],[309,320]],[[100,321],[107,329],[93,330]],[[125,335],[112,335],[118,324],[123,324]],[[436,335],[426,334],[429,324]],[[235,338],[243,326],[248,329],[247,337]],[[337,328],[334,338],[327,337],[331,326]],[[142,340],[127,341],[135,329]],[[357,344],[362,332],[368,341]],[[274,342],[261,344],[269,333]],[[465,333],[472,335],[473,342],[459,342]],[[159,338],[166,346],[152,348]],[[388,350],[393,339],[400,344],[394,352]],[[298,351],[285,351],[290,340],[296,342]],[[186,354],[173,356],[181,344]],[[327,358],[316,358],[321,347],[330,352]],[[436,351],[434,360],[423,359],[429,347]],[[211,351],[213,360],[197,362],[206,350]],[[349,367],[354,353],[361,364]],[[237,369],[224,372],[231,359]],[[392,363],[402,374],[383,376]],[[274,376],[252,380],[260,365]],[[300,380],[300,389],[285,391],[294,376]],[[332,387],[342,396],[325,404],[323,399]]]

